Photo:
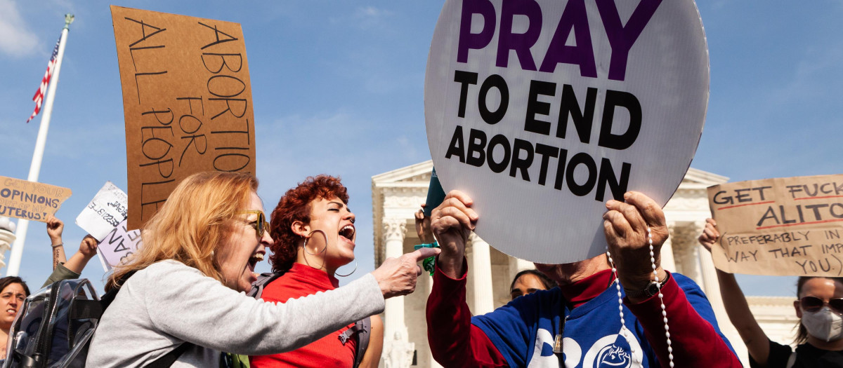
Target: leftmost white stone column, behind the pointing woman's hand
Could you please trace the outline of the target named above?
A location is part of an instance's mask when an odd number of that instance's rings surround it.
[[[404,218],[384,218],[384,248],[385,258],[398,258],[404,254],[404,235],[406,220]],[[406,339],[407,327],[404,323],[404,297],[390,297],[386,300],[384,310],[384,340],[389,344],[395,339],[395,333],[400,332]],[[384,349],[386,346],[384,346]]]

